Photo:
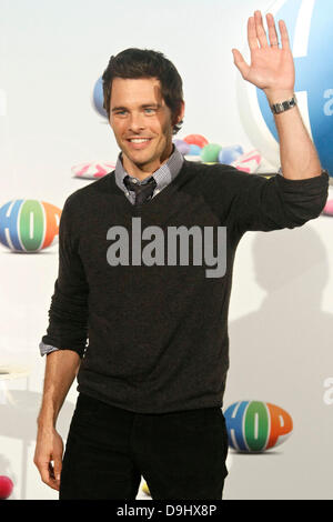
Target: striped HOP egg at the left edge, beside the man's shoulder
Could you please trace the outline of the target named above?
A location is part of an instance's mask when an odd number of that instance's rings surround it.
[[[0,242],[16,252],[38,252],[58,242],[61,210],[38,200],[12,200],[0,208]]]

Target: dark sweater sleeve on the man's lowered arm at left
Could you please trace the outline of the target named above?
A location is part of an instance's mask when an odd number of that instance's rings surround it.
[[[71,195],[59,224],[59,269],[49,310],[49,327],[40,343],[41,354],[54,349],[83,357],[88,337],[88,282],[73,233]],[[46,347],[51,350],[44,350]]]

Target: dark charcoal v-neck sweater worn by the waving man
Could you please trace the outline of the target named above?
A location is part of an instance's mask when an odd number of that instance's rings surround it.
[[[59,273],[42,342],[77,351],[82,358],[78,390],[111,405],[141,413],[222,406],[238,243],[248,230],[294,228],[316,218],[327,188],[326,173],[268,179],[184,161],[178,177],[141,207],[115,184],[114,171],[77,190],[61,214]],[[134,218],[141,219],[134,220],[141,223],[141,244],[138,237],[131,242]],[[148,227],[164,232],[164,264],[151,264],[143,255],[154,239],[143,231],[157,230]],[[196,227],[202,249],[209,228],[215,253],[218,230],[226,228],[225,273],[208,277],[212,267],[205,255],[201,264],[193,262],[194,240],[188,242],[188,263],[178,253],[176,264],[168,264],[172,227],[188,232]],[[130,255],[114,265],[109,249],[120,240],[120,228],[128,232],[129,242],[123,239],[121,247],[128,245]],[[149,252],[161,260],[161,252]]]

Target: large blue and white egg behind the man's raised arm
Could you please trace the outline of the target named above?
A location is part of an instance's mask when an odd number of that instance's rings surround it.
[[[333,48],[332,0],[276,0],[270,9],[286,23],[295,62],[295,93],[322,167],[333,175]],[[251,141],[280,167],[274,118],[261,89],[239,83],[240,109]],[[248,97],[244,97],[246,89]],[[242,100],[243,98],[243,100]],[[251,121],[252,120],[252,121]]]

